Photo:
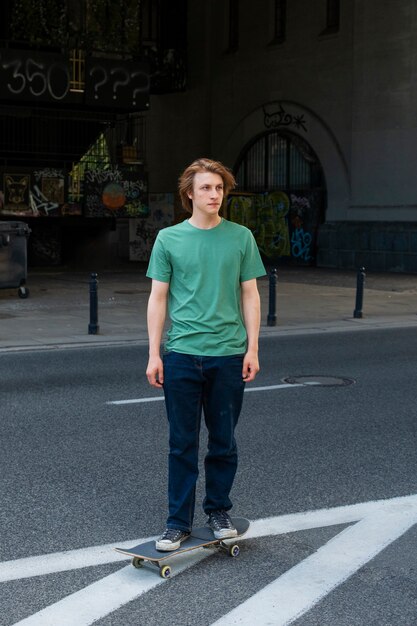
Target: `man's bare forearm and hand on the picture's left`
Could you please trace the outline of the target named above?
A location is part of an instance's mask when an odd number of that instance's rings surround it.
[[[146,377],[153,387],[162,387],[164,366],[160,356],[162,333],[167,311],[169,283],[152,280],[152,289],[148,301],[148,336],[149,361]]]

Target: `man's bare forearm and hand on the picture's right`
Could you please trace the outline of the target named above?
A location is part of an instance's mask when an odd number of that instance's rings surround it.
[[[242,310],[248,335],[248,347],[243,359],[242,377],[249,383],[259,372],[258,338],[261,323],[261,303],[256,278],[241,283]]]

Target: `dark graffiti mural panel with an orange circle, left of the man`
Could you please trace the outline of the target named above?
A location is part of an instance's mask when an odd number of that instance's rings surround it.
[[[84,177],[86,217],[146,217],[148,181],[144,173],[119,168],[88,170]]]

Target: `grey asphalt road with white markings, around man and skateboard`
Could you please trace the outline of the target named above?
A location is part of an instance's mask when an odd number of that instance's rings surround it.
[[[259,626],[415,626],[414,330],[262,340],[233,491],[252,534],[239,558],[189,555],[168,581],[111,549],[165,523],[146,352],[0,355],[0,626],[253,625],[251,611]],[[110,404],[124,400],[141,402]]]

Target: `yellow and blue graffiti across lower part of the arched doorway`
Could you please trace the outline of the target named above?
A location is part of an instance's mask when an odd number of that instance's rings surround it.
[[[228,217],[252,231],[266,258],[291,257],[300,263],[311,263],[319,204],[314,191],[298,195],[283,191],[232,194]]]

